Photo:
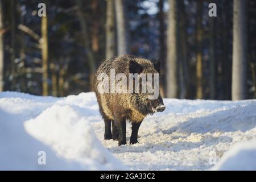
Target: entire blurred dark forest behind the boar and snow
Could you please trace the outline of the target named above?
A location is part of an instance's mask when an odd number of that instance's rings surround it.
[[[255,17],[254,0],[0,0],[0,91],[90,92],[102,60],[131,54],[160,59],[164,97],[256,98]]]

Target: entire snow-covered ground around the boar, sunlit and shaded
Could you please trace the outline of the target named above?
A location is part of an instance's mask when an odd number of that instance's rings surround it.
[[[104,140],[94,93],[0,93],[0,169],[256,170],[256,100],[164,104],[163,113],[142,122],[139,144],[118,147]],[[127,127],[128,141],[130,134]],[[38,164],[39,151],[46,165]]]

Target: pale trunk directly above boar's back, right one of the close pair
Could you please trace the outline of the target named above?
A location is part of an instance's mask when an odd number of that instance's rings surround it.
[[[125,0],[115,0],[115,17],[117,24],[117,55],[126,55],[129,52],[128,32],[126,22]]]

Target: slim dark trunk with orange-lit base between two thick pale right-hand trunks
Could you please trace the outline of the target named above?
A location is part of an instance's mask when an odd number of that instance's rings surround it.
[[[202,40],[203,40],[203,29],[202,29],[202,9],[203,1],[197,1],[197,19],[196,19],[196,78],[197,78],[197,89],[196,97],[199,99],[203,98],[203,55],[202,55]]]

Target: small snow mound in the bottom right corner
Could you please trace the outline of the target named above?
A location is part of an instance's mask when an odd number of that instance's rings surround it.
[[[232,147],[212,170],[256,170],[256,141],[241,142]]]

